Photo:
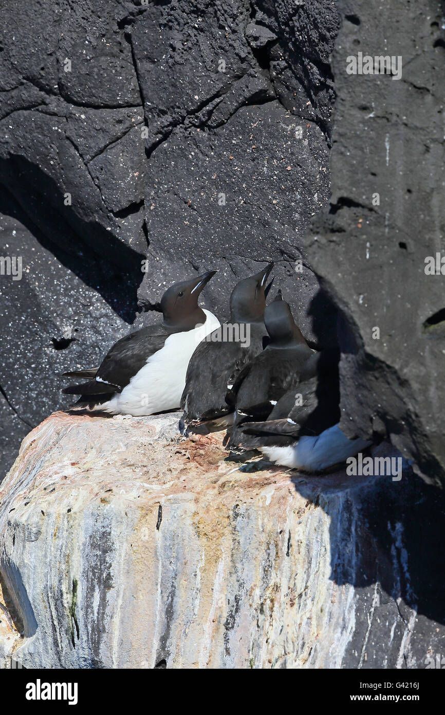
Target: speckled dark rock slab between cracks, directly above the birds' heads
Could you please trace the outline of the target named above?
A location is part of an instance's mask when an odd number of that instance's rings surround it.
[[[276,284],[301,330],[316,340],[307,312],[319,290],[309,267],[295,272],[309,217],[326,201],[326,148],[318,127],[304,127],[279,102],[241,107],[213,131],[181,127],[151,154],[146,197],[152,262],[139,294],[164,277],[218,268],[206,298],[224,315],[238,277],[276,261]],[[174,167],[185,167],[179,172]],[[298,188],[296,188],[298,182]],[[171,267],[171,268],[169,268]],[[174,271],[174,272],[173,272]],[[165,279],[164,279],[165,280]],[[335,320],[321,340],[334,340]]]

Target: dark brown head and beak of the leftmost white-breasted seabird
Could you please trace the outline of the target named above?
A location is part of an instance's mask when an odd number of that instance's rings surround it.
[[[198,324],[206,322],[206,314],[198,305],[198,297],[216,270],[209,270],[203,275],[174,283],[161,298],[161,310],[164,325],[174,332],[193,330]]]

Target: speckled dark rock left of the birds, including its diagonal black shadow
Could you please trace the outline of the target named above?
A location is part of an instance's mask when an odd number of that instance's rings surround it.
[[[6,215],[8,212],[9,215]],[[25,223],[26,222],[26,225]],[[22,277],[0,277],[1,467],[41,416],[69,405],[59,394],[68,366],[94,366],[128,332],[133,277],[94,252],[73,255],[31,224],[0,190],[0,255],[21,256]]]

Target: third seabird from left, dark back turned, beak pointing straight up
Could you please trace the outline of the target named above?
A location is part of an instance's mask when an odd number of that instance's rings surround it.
[[[234,428],[228,446],[239,447],[239,428],[253,420],[266,420],[276,403],[299,385],[300,373],[313,354],[295,324],[281,291],[264,310],[269,345],[241,370],[227,400],[235,403]]]

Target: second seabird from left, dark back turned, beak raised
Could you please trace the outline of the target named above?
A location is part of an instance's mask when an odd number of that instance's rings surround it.
[[[184,415],[181,432],[187,428],[223,428],[232,422],[233,405],[226,402],[227,390],[244,365],[263,350],[266,281],[274,266],[236,284],[230,296],[230,323],[224,323],[200,343],[189,362],[181,398]],[[206,424],[204,424],[206,423]]]

